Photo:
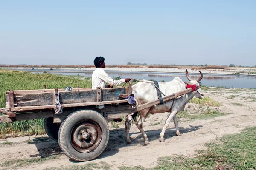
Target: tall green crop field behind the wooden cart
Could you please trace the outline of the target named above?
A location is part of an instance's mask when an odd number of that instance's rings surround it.
[[[74,78],[75,77],[75,78]],[[33,90],[65,88],[77,86],[81,88],[91,87],[91,81],[81,80],[80,76],[63,76],[55,74],[32,74],[26,71],[11,71],[0,69],[0,108],[5,108],[5,91],[7,90]],[[12,136],[40,135],[44,134],[44,120],[27,120],[13,123],[0,123],[0,138]]]

